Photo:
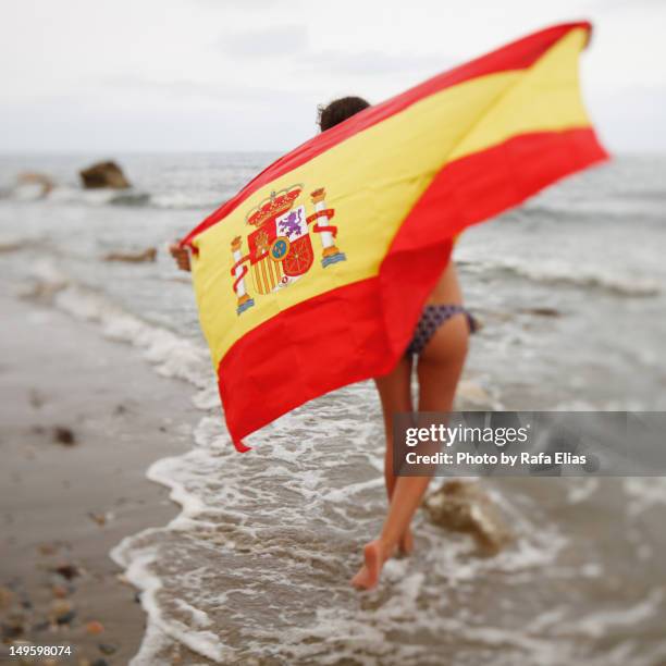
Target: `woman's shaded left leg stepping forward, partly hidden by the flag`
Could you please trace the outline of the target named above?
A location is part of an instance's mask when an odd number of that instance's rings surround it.
[[[403,357],[397,366],[386,375],[374,380],[382,403],[384,430],[386,433],[386,449],[384,453],[384,482],[388,503],[395,488],[393,472],[393,415],[398,411],[412,411],[411,403],[411,357]],[[409,526],[400,536],[399,547],[404,553],[410,553],[414,545]]]

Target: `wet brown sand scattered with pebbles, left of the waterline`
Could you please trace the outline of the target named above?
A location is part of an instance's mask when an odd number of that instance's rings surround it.
[[[145,615],[109,551],[177,513],[145,471],[190,446],[192,390],[64,313],[0,307],[0,661],[15,636],[126,664]]]

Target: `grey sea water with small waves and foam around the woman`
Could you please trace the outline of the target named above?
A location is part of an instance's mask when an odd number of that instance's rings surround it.
[[[515,541],[480,558],[418,514],[416,553],[348,584],[385,507],[370,382],[231,445],[187,274],[165,244],[275,156],[118,156],[134,184],[84,192],[92,156],[0,158],[0,266],[192,384],[201,420],[149,479],[181,514],[113,551],[141,592],[136,664],[645,664],[666,661],[661,479],[482,481]],[[21,171],[50,174],[39,198]],[[666,158],[620,156],[466,232],[456,261],[483,323],[458,404],[666,409]],[[108,252],[158,248],[155,263]],[[184,652],[185,654],[185,652]]]

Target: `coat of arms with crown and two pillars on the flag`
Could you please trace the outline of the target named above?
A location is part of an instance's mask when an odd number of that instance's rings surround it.
[[[314,261],[310,231],[319,235],[323,268],[346,260],[344,252],[335,245],[337,227],[330,222],[335,211],[326,208],[325,189],[319,187],[310,193],[311,214],[307,213],[305,202],[295,206],[304,198],[303,190],[303,185],[293,185],[273,192],[268,199],[248,211],[245,222],[254,231],[245,240],[246,255],[243,254],[243,237],[236,236],[232,240],[232,278],[238,314],[255,305],[254,295],[266,295],[286,287],[310,270]],[[308,225],[311,223],[310,230]],[[248,273],[250,279],[247,278]]]

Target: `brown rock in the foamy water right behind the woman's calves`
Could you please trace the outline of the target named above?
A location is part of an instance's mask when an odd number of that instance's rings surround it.
[[[482,555],[495,555],[511,540],[499,510],[478,483],[447,481],[423,506],[435,525],[471,534]]]

